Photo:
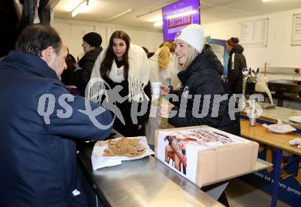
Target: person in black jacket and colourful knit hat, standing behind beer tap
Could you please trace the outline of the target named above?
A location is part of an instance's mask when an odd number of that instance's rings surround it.
[[[226,48],[229,52],[228,60],[228,81],[227,85],[234,94],[242,93],[242,69],[246,68],[246,58],[243,55],[244,47],[238,44],[238,38],[230,38],[226,41]]]

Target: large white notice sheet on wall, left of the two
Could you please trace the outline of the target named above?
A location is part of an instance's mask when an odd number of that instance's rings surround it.
[[[267,47],[269,19],[244,21],[239,23],[240,40],[244,47]]]

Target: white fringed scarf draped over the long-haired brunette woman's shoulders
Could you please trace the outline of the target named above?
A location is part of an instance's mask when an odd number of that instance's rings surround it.
[[[90,82],[88,84],[88,98],[94,102],[99,102],[99,97],[106,94],[104,82],[95,81],[95,77],[101,77],[101,63],[105,58],[105,53],[107,53],[107,48],[99,54],[99,57],[96,59]],[[148,64],[148,58],[142,47],[138,45],[130,44],[129,47],[129,101],[142,102],[144,97],[148,99],[147,95],[144,93],[144,87],[148,84],[150,69]],[[109,78],[116,83],[122,82],[124,79],[124,66],[120,68],[117,67],[115,60],[113,60],[112,68],[109,73]],[[94,80],[94,81],[93,81]]]

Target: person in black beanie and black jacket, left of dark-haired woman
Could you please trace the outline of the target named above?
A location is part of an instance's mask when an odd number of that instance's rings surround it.
[[[70,75],[70,84],[77,86],[81,96],[85,96],[86,86],[90,80],[92,69],[96,58],[103,48],[102,38],[96,32],[89,32],[83,36],[83,58],[75,63],[75,69]]]

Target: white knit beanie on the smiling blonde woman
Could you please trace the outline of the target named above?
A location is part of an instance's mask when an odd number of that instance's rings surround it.
[[[175,40],[183,40],[201,53],[202,48],[204,47],[204,29],[202,29],[201,25],[188,25],[176,33],[174,41]]]

